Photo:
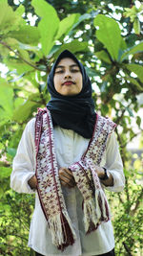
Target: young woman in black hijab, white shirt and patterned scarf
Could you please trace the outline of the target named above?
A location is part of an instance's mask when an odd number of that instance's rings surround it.
[[[124,188],[115,124],[94,111],[92,84],[68,50],[48,77],[51,101],[26,126],[10,186],[35,193],[29,246],[36,255],[114,255],[104,189]]]

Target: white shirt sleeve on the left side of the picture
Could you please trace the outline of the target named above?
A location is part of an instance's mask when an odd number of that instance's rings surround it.
[[[35,119],[31,119],[27,124],[12,163],[10,187],[18,193],[34,193],[28,184],[35,174],[34,123]]]

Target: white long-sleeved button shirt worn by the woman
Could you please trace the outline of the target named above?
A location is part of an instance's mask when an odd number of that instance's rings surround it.
[[[34,148],[35,119],[27,124],[20,140],[17,153],[13,159],[10,175],[10,187],[18,193],[35,193],[35,208],[31,219],[29,246],[45,256],[90,256],[107,253],[114,247],[112,222],[104,222],[97,230],[86,235],[83,224],[82,196],[78,189],[63,187],[67,210],[76,232],[76,241],[63,252],[51,243],[51,233],[41,209],[36,191],[31,190],[28,180],[35,174]],[[86,151],[90,139],[85,139],[71,129],[56,127],[53,130],[54,147],[59,167],[69,167],[80,160]],[[118,145],[112,133],[107,142],[101,166],[106,167],[113,177],[113,186],[105,187],[112,192],[120,192],[125,185],[123,166]]]

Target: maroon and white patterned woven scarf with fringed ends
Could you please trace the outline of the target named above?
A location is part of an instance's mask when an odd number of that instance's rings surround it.
[[[111,120],[97,116],[92,139],[80,161],[73,163],[76,186],[83,196],[85,232],[95,230],[101,221],[109,221],[109,205],[95,173],[100,165],[109,134],[115,128]],[[36,177],[40,203],[51,230],[52,243],[63,250],[76,239],[72,221],[66,209],[54,151],[51,113],[38,109],[35,122]]]

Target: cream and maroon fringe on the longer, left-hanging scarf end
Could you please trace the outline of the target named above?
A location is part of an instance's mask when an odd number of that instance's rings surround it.
[[[51,240],[58,249],[64,250],[68,245],[72,245],[76,239],[72,228],[71,220],[66,212],[58,213],[49,220],[51,230]]]

